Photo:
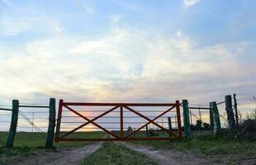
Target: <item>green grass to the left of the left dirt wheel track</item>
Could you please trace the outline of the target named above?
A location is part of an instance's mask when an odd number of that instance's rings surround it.
[[[105,134],[103,132],[83,132],[74,133],[73,137],[81,138],[101,138]],[[6,148],[7,132],[0,132],[0,164],[12,164],[13,160],[18,161],[29,155],[35,155],[42,152],[50,152],[52,149],[45,149],[45,133],[17,132],[14,147]],[[56,148],[77,148],[82,147],[86,142],[59,142],[54,144]]]

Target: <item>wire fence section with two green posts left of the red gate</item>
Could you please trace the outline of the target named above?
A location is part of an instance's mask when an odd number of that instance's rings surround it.
[[[48,111],[40,111],[40,109],[48,109]],[[4,123],[4,125],[10,123],[6,141],[7,147],[13,146],[17,131],[25,132],[28,129],[31,129],[31,132],[37,131],[45,136],[46,148],[53,147],[55,134],[55,98],[50,98],[50,103],[48,105],[27,104],[20,103],[18,100],[13,100],[12,106],[9,108],[0,107],[0,111],[5,111],[0,114],[4,119],[0,120],[0,123]],[[38,124],[36,124],[36,120],[38,121]],[[47,123],[48,125],[45,125]],[[47,134],[45,134],[45,132],[47,132]]]

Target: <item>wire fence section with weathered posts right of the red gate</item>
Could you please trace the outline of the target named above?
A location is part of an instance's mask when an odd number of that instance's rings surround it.
[[[184,136],[188,138],[195,134],[217,134],[220,130],[235,131],[239,129],[239,122],[249,120],[252,114],[255,118],[256,99],[236,97],[236,94],[228,95],[224,100],[212,101],[209,105],[189,105],[187,100],[183,100],[181,106],[183,106]],[[243,102],[239,104],[239,101]]]

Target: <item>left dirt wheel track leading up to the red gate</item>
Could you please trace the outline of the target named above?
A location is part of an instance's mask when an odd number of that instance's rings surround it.
[[[87,158],[89,155],[101,148],[102,142],[88,144],[83,148],[65,149],[57,152],[41,153],[31,158],[27,158],[26,161],[22,161],[17,164],[27,165],[76,165],[83,158]]]

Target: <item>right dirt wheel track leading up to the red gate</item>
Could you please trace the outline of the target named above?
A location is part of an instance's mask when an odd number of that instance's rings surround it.
[[[135,150],[139,153],[144,153],[148,158],[151,158],[155,163],[159,165],[205,165],[205,164],[217,164],[211,163],[206,158],[200,158],[192,153],[182,153],[171,150],[154,149],[148,146],[134,145],[130,143],[121,143],[127,148]]]

